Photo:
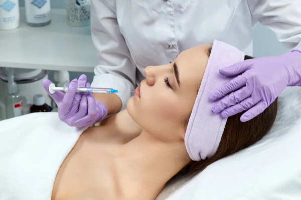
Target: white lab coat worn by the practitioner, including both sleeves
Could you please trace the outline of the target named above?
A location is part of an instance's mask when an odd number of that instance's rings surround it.
[[[301,49],[301,0],[92,0],[92,86],[133,90],[146,66],[214,39],[252,55],[258,21],[286,48]],[[124,108],[131,93],[117,94]]]

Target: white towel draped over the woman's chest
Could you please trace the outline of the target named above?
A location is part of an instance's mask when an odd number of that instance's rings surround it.
[[[56,174],[84,129],[57,112],[0,121],[0,200],[50,200]]]

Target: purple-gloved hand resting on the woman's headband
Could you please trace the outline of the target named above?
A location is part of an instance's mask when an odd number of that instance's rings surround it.
[[[301,85],[301,52],[247,59],[219,72],[225,76],[240,75],[212,92],[212,101],[223,97],[212,112],[227,117],[247,110],[240,120],[248,121],[267,108],[286,86]]]

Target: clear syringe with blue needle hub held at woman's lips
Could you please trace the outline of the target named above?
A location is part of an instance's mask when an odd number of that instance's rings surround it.
[[[69,84],[64,84],[64,87],[57,87],[54,83],[49,85],[49,93],[53,94],[55,91],[67,91]],[[78,87],[76,92],[89,92],[89,93],[117,93],[120,92],[118,89],[104,88],[104,87]],[[122,91],[122,92],[133,92],[133,91]]]

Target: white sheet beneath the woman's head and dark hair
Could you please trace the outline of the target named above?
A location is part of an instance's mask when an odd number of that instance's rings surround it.
[[[278,97],[276,121],[264,138],[191,180],[174,181],[157,199],[301,199],[300,144],[301,88],[287,87]]]

